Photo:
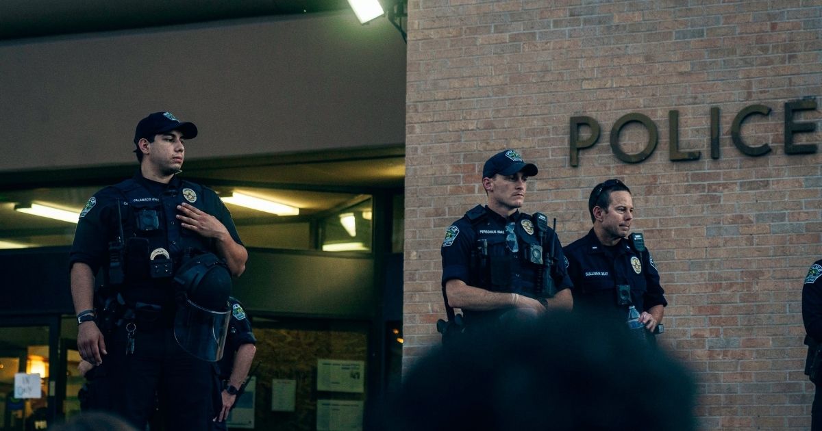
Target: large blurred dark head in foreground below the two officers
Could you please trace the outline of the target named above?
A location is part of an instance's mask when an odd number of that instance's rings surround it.
[[[663,351],[612,323],[552,313],[436,347],[379,426],[691,431],[694,404],[690,373]]]

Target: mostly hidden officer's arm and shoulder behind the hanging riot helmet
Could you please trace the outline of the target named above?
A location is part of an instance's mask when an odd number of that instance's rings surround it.
[[[245,388],[248,370],[251,369],[254,354],[256,353],[256,338],[252,332],[252,324],[248,315],[242,309],[242,304],[236,298],[229,298],[231,304],[231,320],[229,336],[225,342],[223,359],[217,363],[216,391],[217,416],[214,418],[214,429],[227,429],[225,420],[229,412],[237,403]]]

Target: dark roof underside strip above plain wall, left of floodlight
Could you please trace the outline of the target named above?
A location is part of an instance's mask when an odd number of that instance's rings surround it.
[[[0,40],[346,8],[347,0],[2,0]]]

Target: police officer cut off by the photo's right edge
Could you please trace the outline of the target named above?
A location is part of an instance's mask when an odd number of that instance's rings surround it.
[[[802,286],[802,322],[805,323],[805,343],[808,357],[805,374],[816,387],[814,403],[810,407],[810,429],[822,430],[822,259],[810,265]]]

